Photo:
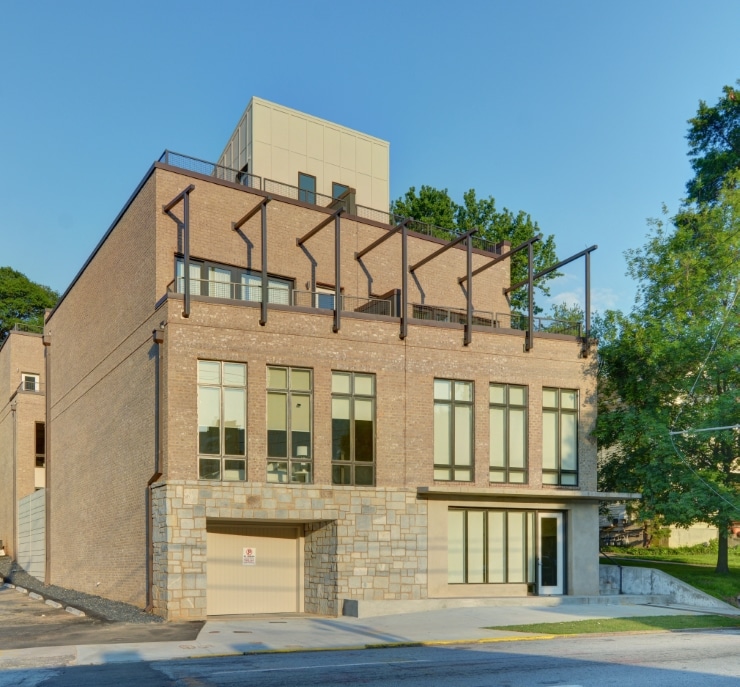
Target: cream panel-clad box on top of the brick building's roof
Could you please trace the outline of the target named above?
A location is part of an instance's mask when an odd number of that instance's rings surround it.
[[[290,186],[303,172],[320,194],[330,196],[335,182],[354,188],[359,205],[389,207],[388,141],[261,98],[249,101],[218,162]]]

